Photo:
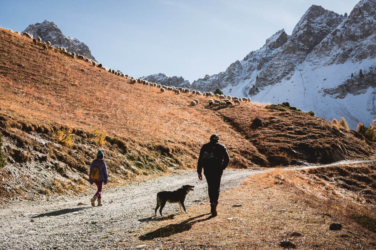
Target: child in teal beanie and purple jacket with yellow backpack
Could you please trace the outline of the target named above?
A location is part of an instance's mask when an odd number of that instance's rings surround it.
[[[106,185],[108,182],[107,165],[103,160],[104,157],[105,155],[102,150],[99,150],[97,153],[97,159],[95,159],[90,166],[89,182],[91,185],[95,183],[98,188],[97,193],[90,199],[93,207],[95,207],[96,199],[98,199],[98,206],[102,206],[102,187],[103,184]]]

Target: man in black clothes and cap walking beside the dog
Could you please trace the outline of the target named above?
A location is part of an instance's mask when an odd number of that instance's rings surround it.
[[[208,193],[212,216],[217,216],[217,205],[223,170],[229,165],[230,157],[224,145],[219,143],[218,135],[210,136],[210,142],[204,144],[197,163],[197,174],[202,181],[202,168],[208,182]]]

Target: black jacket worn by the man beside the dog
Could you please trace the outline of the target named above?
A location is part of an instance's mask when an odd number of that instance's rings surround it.
[[[219,142],[204,144],[200,150],[197,162],[197,173],[202,173],[202,168],[207,171],[223,171],[229,165],[230,156],[227,148]]]

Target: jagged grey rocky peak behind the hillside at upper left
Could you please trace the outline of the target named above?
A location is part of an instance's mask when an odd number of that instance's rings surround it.
[[[35,38],[41,37],[44,42],[50,41],[53,46],[60,46],[66,48],[68,52],[75,52],[76,54],[95,60],[85,43],[80,42],[76,38],[64,36],[53,22],[44,20],[42,23],[30,24],[24,31],[32,34]]]

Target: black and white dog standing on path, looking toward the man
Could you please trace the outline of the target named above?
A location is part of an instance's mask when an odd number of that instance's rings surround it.
[[[188,193],[191,190],[194,190],[193,188],[194,188],[194,186],[184,185],[184,186],[182,186],[179,189],[176,189],[174,191],[158,192],[157,193],[157,207],[155,208],[154,216],[157,216],[157,210],[158,210],[159,207],[161,207],[159,209],[159,213],[161,214],[161,216],[163,216],[162,215],[162,209],[166,205],[166,202],[168,202],[168,203],[178,203],[180,212],[183,212],[182,211],[182,208],[183,208],[184,212],[186,214],[188,214],[188,212],[186,211],[185,206],[184,206],[184,201],[185,201],[185,198],[187,197]]]

